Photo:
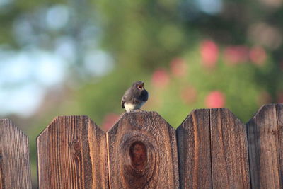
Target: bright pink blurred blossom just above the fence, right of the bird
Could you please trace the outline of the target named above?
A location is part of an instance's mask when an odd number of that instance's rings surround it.
[[[205,98],[207,108],[221,108],[225,105],[225,96],[221,91],[212,91]]]

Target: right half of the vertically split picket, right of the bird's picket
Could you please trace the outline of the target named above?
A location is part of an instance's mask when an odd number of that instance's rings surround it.
[[[250,188],[246,125],[226,108],[210,110],[213,188]]]

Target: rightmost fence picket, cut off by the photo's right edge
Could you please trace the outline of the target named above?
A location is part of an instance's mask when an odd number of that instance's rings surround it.
[[[279,174],[279,155],[282,149],[279,149],[277,123],[277,116],[279,122],[282,119],[282,105],[278,108],[278,114],[276,106],[262,106],[247,123],[252,188],[282,188],[283,182]]]

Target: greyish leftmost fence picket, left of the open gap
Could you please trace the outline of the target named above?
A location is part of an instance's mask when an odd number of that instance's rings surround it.
[[[0,188],[31,188],[28,137],[8,119],[0,120]]]

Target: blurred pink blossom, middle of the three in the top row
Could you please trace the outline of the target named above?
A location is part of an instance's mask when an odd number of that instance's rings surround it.
[[[224,50],[224,59],[228,64],[238,64],[248,61],[248,47],[230,46]]]

